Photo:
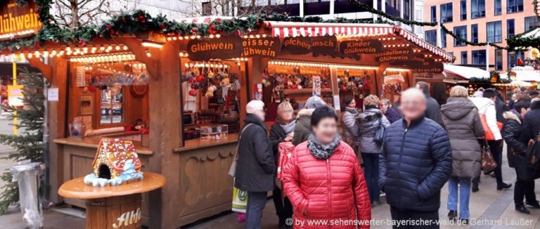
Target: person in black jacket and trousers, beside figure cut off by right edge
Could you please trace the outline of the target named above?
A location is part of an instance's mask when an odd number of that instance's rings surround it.
[[[506,119],[506,126],[504,129],[504,140],[506,144],[510,146],[508,151],[508,164],[510,167],[515,168],[515,173],[518,175],[515,181],[514,188],[514,204],[515,210],[523,214],[531,214],[531,211],[525,207],[525,204],[540,209],[540,204],[536,201],[536,194],[534,193],[534,180],[522,180],[520,179],[520,173],[526,172],[522,170],[523,166],[526,166],[526,160],[518,157],[524,157],[527,153],[527,144],[529,143],[529,137],[522,133],[522,123],[527,112],[530,110],[530,104],[528,101],[520,101],[515,103],[514,110],[504,112],[503,116]],[[523,203],[523,197],[525,196],[525,204]]]

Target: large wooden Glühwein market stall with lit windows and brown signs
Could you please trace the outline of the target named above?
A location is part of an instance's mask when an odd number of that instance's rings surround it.
[[[238,20],[249,26],[226,29]],[[128,22],[136,30],[122,27]],[[84,207],[56,195],[58,187],[91,173],[101,138],[132,140],[142,171],[167,180],[143,195],[143,225],[150,228],[177,228],[231,209],[227,171],[249,100],[264,100],[271,114],[282,100],[301,109],[315,94],[340,110],[342,96],[392,99],[413,85],[413,73],[442,72],[454,60],[382,24],[172,22],[139,12],[99,28],[88,41],[40,37],[39,46],[9,54],[23,55],[49,79],[49,90],[58,89],[58,100],[48,101],[49,198]]]

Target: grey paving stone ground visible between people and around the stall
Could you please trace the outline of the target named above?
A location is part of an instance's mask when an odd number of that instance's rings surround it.
[[[503,156],[503,179],[507,183],[515,182],[515,172],[508,167],[506,154]],[[513,184],[514,185],[514,184]],[[446,219],[446,198],[448,188],[445,186],[441,193],[441,208],[439,216]],[[536,195],[540,199],[540,182],[536,182]],[[384,198],[383,198],[384,200]],[[478,223],[487,223],[489,225],[442,225],[441,228],[540,228],[540,209],[530,209],[531,214],[520,214],[514,209],[513,187],[509,190],[496,190],[495,178],[482,175],[480,183],[480,192],[472,193],[470,197],[470,218],[477,220]],[[383,204],[372,209],[372,216],[375,220],[386,221],[390,218],[390,207]],[[262,228],[277,228],[278,218],[274,209],[274,204],[269,199],[264,209],[262,218]],[[24,228],[24,223],[20,218],[18,209],[0,216],[0,229]],[[520,225],[510,225],[510,224]],[[224,213],[212,218],[206,218],[197,223],[186,225],[184,228],[203,229],[203,228],[244,228],[245,224],[236,221],[236,214]],[[68,216],[57,211],[48,210],[45,213],[45,228],[84,228],[84,218]],[[389,225],[373,225],[371,228],[391,228]]]

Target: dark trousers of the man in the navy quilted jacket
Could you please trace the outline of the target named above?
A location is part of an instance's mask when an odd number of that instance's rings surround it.
[[[392,228],[407,229],[438,229],[439,211],[413,211],[409,209],[397,209],[390,206],[390,215],[392,220],[400,223],[409,223],[409,225],[392,225]],[[422,220],[421,224],[418,220]],[[427,222],[427,223],[426,223]],[[416,223],[415,225],[411,225]],[[420,225],[418,225],[420,224]]]

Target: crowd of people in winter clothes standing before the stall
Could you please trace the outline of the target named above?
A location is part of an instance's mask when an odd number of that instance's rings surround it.
[[[467,224],[470,192],[480,190],[483,153],[496,162],[496,189],[503,182],[503,143],[518,179],[515,209],[540,209],[534,179],[523,169],[528,145],[539,135],[537,91],[518,89],[504,103],[495,89],[454,86],[444,105],[430,96],[430,85],[418,82],[397,103],[366,96],[363,107],[347,96],[341,117],[317,96],[297,112],[278,105],[277,119],[266,130],[264,103],[252,100],[238,142],[235,187],[248,192],[246,228],[261,228],[267,192],[273,192],[280,228],[326,228],[306,220],[357,220],[338,228],[369,228],[371,208],[384,193],[393,220],[411,222],[394,228],[439,228],[441,190],[448,183],[448,218]],[[361,108],[361,109],[359,109]],[[338,124],[340,122],[340,124]],[[279,144],[295,145],[281,179],[276,179]],[[525,201],[524,201],[525,200]],[[458,208],[459,207],[459,208]],[[294,218],[294,221],[290,219]],[[299,224],[302,223],[302,224]],[[414,224],[414,225],[413,225]]]

